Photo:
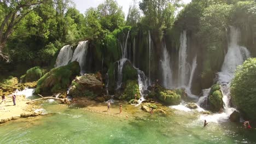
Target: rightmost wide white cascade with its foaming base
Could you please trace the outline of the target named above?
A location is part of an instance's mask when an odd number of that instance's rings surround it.
[[[230,26],[230,41],[228,45],[228,52],[226,53],[224,63],[222,65],[222,71],[218,73],[218,83],[221,85],[221,91],[223,94],[224,111],[214,115],[200,116],[200,120],[207,122],[225,122],[228,120],[234,108],[230,107],[230,82],[234,77],[235,70],[238,65],[241,65],[249,56],[250,53],[246,47],[238,45],[240,40],[239,29]],[[207,100],[207,97],[202,98]],[[202,99],[198,103],[202,103]]]

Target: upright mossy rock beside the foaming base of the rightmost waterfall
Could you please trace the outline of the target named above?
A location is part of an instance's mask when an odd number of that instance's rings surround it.
[[[216,84],[211,87],[210,94],[208,96],[209,110],[218,112],[223,109],[223,95],[220,91],[220,85]]]

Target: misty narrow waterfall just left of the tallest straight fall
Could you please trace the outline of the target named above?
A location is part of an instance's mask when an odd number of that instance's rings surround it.
[[[165,88],[172,88],[172,70],[170,55],[167,51],[165,43],[163,44],[162,59],[160,60],[162,68],[162,85]]]

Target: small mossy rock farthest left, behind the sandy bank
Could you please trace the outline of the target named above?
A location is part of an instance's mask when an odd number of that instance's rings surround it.
[[[39,80],[44,74],[44,70],[40,67],[33,67],[28,69],[25,75],[20,77],[21,82],[33,82]]]

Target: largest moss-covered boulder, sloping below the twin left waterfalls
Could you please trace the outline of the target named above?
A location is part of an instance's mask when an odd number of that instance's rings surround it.
[[[66,91],[72,79],[79,75],[80,66],[78,62],[51,69],[38,80],[35,93],[53,94]]]

